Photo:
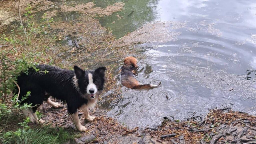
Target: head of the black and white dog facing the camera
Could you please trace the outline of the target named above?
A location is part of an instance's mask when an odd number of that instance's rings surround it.
[[[105,67],[99,67],[94,71],[84,71],[78,66],[74,66],[76,74],[73,78],[74,86],[82,95],[95,98],[95,95],[103,90],[105,70]]]

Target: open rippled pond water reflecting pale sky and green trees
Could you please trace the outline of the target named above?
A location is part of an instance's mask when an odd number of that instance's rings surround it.
[[[115,2],[94,3],[104,7]],[[154,22],[171,22],[165,29],[178,35],[139,45],[146,58],[139,59],[136,79],[162,85],[148,91],[123,87],[120,98],[107,105],[103,98],[108,116],[129,127],[146,127],[161,124],[164,116],[182,120],[215,107],[256,114],[255,1],[123,2],[123,11],[99,18],[116,38]]]

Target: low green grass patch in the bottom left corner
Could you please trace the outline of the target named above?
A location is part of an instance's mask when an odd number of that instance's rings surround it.
[[[44,126],[1,133],[3,144],[62,144],[78,137],[73,131]]]

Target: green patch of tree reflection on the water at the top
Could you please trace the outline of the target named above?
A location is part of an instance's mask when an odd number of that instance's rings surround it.
[[[111,16],[99,18],[101,25],[112,30],[116,38],[120,38],[141,27],[146,22],[155,19],[153,14],[156,8],[156,0],[129,0],[129,1],[96,1],[96,6],[106,6],[115,2],[125,3],[122,11],[116,12]]]

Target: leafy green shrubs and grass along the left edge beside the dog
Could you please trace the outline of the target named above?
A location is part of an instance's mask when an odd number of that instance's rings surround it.
[[[27,12],[23,14],[25,20],[21,26],[11,30],[8,34],[0,34],[0,44],[4,45],[0,47],[0,143],[63,143],[74,138],[73,132],[50,126],[30,128],[28,118],[15,127],[10,122],[20,116],[21,109],[32,107],[29,104],[20,105],[22,100],[17,100],[18,95],[12,94],[12,91],[17,88],[15,81],[19,74],[27,73],[30,67],[38,70],[35,68],[36,65],[47,61],[46,57],[50,59],[49,64],[52,61],[52,58],[46,54],[49,46],[32,46],[31,44],[33,40],[40,41],[47,36],[47,29],[54,19],[41,19],[40,24],[36,24],[31,15],[31,6],[28,5],[25,10]],[[24,99],[29,95],[28,91],[25,96],[19,97]],[[39,112],[37,114],[39,118],[42,116]],[[8,127],[12,130],[7,130]]]

